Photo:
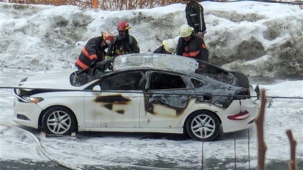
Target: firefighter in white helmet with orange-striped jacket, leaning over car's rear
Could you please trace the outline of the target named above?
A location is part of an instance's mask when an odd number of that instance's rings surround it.
[[[184,24],[180,28],[177,55],[208,62],[208,49],[203,39],[193,34],[194,28]]]

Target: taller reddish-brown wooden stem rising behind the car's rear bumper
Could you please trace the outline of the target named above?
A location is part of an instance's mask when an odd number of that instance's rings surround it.
[[[257,136],[258,136],[258,168],[257,170],[265,170],[265,153],[266,153],[266,144],[264,141],[264,115],[265,115],[265,104],[266,96],[265,89],[261,89],[261,106],[260,113],[255,119],[257,124]]]

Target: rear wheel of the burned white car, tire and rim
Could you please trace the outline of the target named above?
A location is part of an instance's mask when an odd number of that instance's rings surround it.
[[[201,110],[190,116],[186,129],[188,135],[195,141],[212,141],[220,132],[220,123],[214,113]]]

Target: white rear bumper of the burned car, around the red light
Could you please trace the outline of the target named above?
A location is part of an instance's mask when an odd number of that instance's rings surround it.
[[[233,116],[243,111],[249,112],[249,116],[243,120],[231,120],[228,118],[228,116]],[[226,133],[253,127],[258,112],[259,106],[254,104],[251,99],[245,99],[234,100],[226,110],[218,112],[217,114],[222,121],[223,132]]]

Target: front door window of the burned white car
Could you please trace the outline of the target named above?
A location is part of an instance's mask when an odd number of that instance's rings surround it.
[[[142,90],[141,72],[122,73],[101,81],[101,90]]]

